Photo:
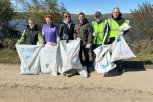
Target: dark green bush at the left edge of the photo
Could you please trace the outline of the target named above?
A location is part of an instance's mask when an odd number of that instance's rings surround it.
[[[18,37],[18,31],[10,26],[10,21],[15,17],[13,5],[10,0],[0,0],[0,47],[4,47],[6,39]],[[8,45],[11,47],[11,45]]]

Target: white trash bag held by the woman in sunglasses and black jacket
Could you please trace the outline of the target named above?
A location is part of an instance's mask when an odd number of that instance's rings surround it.
[[[87,76],[87,69],[82,67],[79,59],[80,40],[60,41],[60,51],[62,57],[62,73],[71,69],[76,69],[82,76]]]

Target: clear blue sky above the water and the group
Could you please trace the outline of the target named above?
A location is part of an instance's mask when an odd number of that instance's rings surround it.
[[[101,11],[105,14],[111,13],[114,7],[119,7],[123,13],[129,13],[131,9],[137,8],[138,4],[145,1],[153,3],[153,0],[58,0],[58,3],[64,3],[70,13],[94,14]]]

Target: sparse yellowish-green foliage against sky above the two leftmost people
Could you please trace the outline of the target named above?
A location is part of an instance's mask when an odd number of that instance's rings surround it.
[[[42,26],[45,15],[52,15],[54,22],[58,23],[62,20],[62,13],[66,11],[64,4],[58,4],[57,0],[18,0],[22,5],[22,9],[18,11],[22,13],[21,18],[33,18],[37,21],[39,27]]]

